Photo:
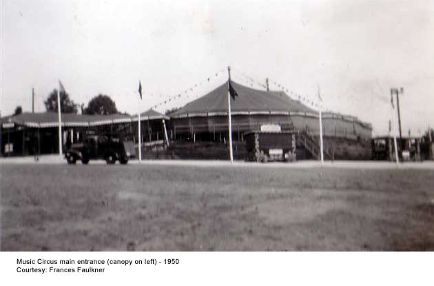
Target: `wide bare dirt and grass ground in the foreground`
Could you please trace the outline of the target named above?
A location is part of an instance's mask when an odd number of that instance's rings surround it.
[[[434,250],[434,170],[1,165],[1,250]]]

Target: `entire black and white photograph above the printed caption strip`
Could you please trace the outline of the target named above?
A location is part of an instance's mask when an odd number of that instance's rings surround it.
[[[1,0],[1,252],[432,252],[434,2]]]

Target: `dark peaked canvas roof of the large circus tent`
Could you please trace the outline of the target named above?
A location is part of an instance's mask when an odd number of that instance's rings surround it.
[[[231,81],[231,85],[236,90],[238,96],[236,99],[231,98],[231,113],[232,114],[263,114],[263,113],[280,113],[284,112],[300,112],[317,114],[315,110],[308,108],[300,101],[291,99],[283,91],[265,91],[255,90],[240,85]],[[180,108],[171,114],[171,117],[185,117],[185,116],[213,116],[222,115],[227,112],[227,82],[220,85],[215,90],[208,94],[201,96],[199,99],[187,103],[187,105]]]

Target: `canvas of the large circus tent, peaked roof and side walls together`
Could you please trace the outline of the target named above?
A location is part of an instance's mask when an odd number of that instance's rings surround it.
[[[231,81],[238,93],[231,99],[232,130],[246,132],[264,123],[282,125],[282,130],[307,131],[319,135],[318,112],[283,91],[248,88]],[[175,134],[225,133],[227,127],[227,82],[215,90],[187,103],[170,114]],[[323,113],[324,136],[347,139],[370,139],[372,127],[354,116],[332,112]],[[214,136],[213,136],[214,137]]]

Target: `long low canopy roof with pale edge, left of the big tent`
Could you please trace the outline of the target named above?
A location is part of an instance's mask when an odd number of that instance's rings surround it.
[[[156,112],[155,110],[147,110],[141,113],[141,121],[152,119],[168,119],[167,116]],[[137,120],[137,116],[127,114],[110,114],[110,115],[88,115],[88,114],[61,114],[63,126],[97,126],[111,123],[128,123]],[[3,123],[17,123],[28,127],[54,127],[59,126],[57,112],[31,113],[23,112],[15,116],[6,116],[0,119]]]

